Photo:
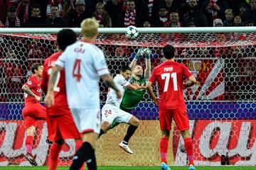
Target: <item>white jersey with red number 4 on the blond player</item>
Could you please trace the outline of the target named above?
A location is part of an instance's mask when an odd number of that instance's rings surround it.
[[[99,80],[109,74],[104,54],[89,42],[78,41],[66,48],[56,65],[65,68],[69,108],[99,108]]]

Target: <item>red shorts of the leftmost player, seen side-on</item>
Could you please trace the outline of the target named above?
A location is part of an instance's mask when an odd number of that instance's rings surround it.
[[[31,126],[37,127],[38,120],[46,120],[46,108],[40,103],[33,103],[23,108],[22,116],[26,129]]]

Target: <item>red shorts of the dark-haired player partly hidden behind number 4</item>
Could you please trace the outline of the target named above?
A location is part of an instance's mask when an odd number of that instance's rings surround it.
[[[47,114],[47,126],[50,141],[79,139],[81,137],[71,113],[63,115]]]

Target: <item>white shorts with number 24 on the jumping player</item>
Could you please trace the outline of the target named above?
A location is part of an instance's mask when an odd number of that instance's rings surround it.
[[[122,111],[117,106],[112,106],[110,104],[105,104],[102,108],[102,122],[108,122],[112,125],[113,121],[117,123],[129,123],[132,118],[132,114]]]

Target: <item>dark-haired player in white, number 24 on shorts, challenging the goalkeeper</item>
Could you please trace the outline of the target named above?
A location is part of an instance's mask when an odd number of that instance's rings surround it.
[[[124,94],[124,87],[130,90],[139,90],[145,89],[145,86],[139,86],[137,82],[130,84],[127,81],[131,77],[131,68],[128,66],[122,66],[120,69],[120,74],[117,74],[114,77],[114,83],[117,85],[119,91]],[[102,107],[102,123],[100,128],[100,135],[107,132],[110,129],[110,125],[113,125],[114,122],[117,123],[127,123],[129,125],[139,126],[139,120],[132,114],[122,111],[119,106],[122,102],[122,98],[117,98],[117,95],[114,94],[114,91],[110,89],[110,92],[107,94],[107,101]],[[129,149],[128,145],[119,144],[119,147],[124,149],[124,151],[133,154],[132,150]]]

